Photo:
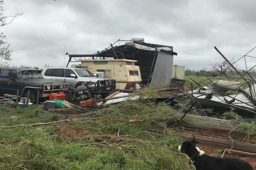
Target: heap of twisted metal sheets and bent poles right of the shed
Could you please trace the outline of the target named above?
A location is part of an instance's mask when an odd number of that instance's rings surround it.
[[[199,88],[194,90],[192,86],[191,91],[175,95],[171,101],[175,104],[190,99],[195,103],[200,104],[204,109],[213,108],[214,112],[219,115],[225,111],[231,111],[231,109],[234,108],[236,112],[243,117],[255,118],[256,81],[249,74],[249,70],[238,71],[238,69],[236,69],[236,67],[234,67],[234,65],[230,63],[230,61],[228,61],[216,47],[215,49],[226,60],[230,67],[233,68],[233,75],[231,76],[226,74],[225,70],[222,70],[219,74],[201,71],[211,84],[208,86],[202,86],[200,85],[201,83],[197,83],[193,80]],[[219,80],[212,81],[216,76],[219,76]],[[221,78],[225,78],[228,81],[220,80]],[[236,81],[229,81],[231,79],[235,79]]]

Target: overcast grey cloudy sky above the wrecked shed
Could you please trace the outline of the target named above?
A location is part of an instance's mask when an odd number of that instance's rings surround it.
[[[4,0],[5,15],[24,14],[1,32],[14,50],[10,66],[62,67],[64,52],[94,54],[118,39],[144,38],[173,46],[174,64],[201,70],[220,61],[214,46],[235,60],[256,46],[255,7],[255,0]],[[246,57],[247,69],[255,61]]]

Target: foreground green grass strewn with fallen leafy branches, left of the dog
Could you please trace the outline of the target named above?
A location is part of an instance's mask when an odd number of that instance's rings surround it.
[[[154,94],[152,92],[149,92]],[[0,105],[0,126],[49,122],[35,106]],[[182,141],[163,130],[178,122],[176,112],[153,98],[127,101],[97,112],[97,122],[65,122],[0,129],[0,169],[188,170]],[[16,116],[17,118],[12,118]],[[129,122],[129,120],[139,120]],[[185,119],[184,119],[185,120]],[[102,142],[106,142],[101,144]]]

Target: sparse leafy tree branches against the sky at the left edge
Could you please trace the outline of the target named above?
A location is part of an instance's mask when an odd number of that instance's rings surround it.
[[[4,0],[0,0],[0,27],[4,27],[7,24],[10,24],[14,18],[19,17],[23,14],[23,12],[16,12],[16,14],[12,16],[5,16],[3,8]],[[4,33],[0,33],[0,67],[5,67],[8,64],[8,61],[11,61],[11,52],[10,44],[6,41],[6,36]]]

